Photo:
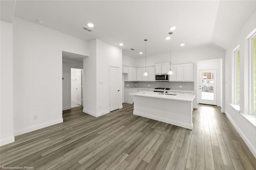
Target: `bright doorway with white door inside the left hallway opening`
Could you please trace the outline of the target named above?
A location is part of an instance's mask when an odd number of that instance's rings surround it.
[[[82,69],[71,68],[71,108],[82,106]]]

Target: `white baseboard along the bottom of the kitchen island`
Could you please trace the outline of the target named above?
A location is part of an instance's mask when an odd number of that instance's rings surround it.
[[[166,118],[163,118],[163,117],[158,117],[158,116],[155,116],[155,115],[148,115],[148,114],[145,114],[145,113],[140,113],[138,111],[133,111],[133,114],[138,115],[138,116],[142,116],[142,117],[147,117],[147,118],[150,118],[150,119],[154,119],[154,120],[157,120],[157,121],[162,121],[162,122],[169,123],[169,124],[172,124],[172,125],[185,127],[187,129],[191,129],[191,130],[193,129],[193,124],[190,125],[188,123],[183,123],[183,122],[180,122],[180,121],[175,121],[175,120],[166,119]]]

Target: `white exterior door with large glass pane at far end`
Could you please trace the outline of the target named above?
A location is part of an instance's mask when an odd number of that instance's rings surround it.
[[[217,70],[199,70],[199,103],[217,105]]]

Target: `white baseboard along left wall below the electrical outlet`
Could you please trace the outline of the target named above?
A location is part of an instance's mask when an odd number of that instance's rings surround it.
[[[14,136],[21,135],[21,134],[24,134],[24,133],[28,133],[28,132],[31,132],[31,131],[35,131],[35,130],[38,130],[38,129],[42,129],[44,127],[48,127],[48,126],[55,125],[55,124],[62,123],[62,122],[63,122],[63,119],[61,118],[61,119],[56,119],[56,120],[53,120],[53,121],[48,121],[48,122],[45,122],[45,123],[40,123],[38,125],[26,127],[26,128],[20,129],[18,131],[14,131]]]

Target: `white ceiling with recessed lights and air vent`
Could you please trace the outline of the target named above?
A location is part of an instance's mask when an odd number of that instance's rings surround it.
[[[255,2],[18,0],[14,16],[34,23],[43,20],[45,27],[86,41],[97,38],[118,47],[124,43],[124,55],[144,57],[144,39],[147,56],[168,53],[170,44],[174,51],[209,44],[226,49],[255,12]],[[94,23],[94,31],[82,29],[88,22]],[[176,30],[167,41],[171,26]],[[181,43],[186,45],[180,47]]]

